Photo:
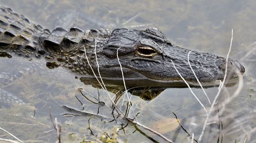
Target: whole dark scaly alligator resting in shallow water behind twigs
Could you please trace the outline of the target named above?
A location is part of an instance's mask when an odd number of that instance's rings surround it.
[[[95,79],[94,71],[105,84],[123,85],[123,72],[127,87],[186,87],[173,62],[191,87],[199,86],[187,61],[191,50],[174,45],[157,28],[83,31],[72,27],[67,31],[56,27],[50,32],[10,8],[1,6],[0,13],[0,56],[40,59],[50,69],[66,67],[83,82]],[[192,51],[189,61],[204,87],[223,80],[225,58]],[[236,71],[244,73],[245,69],[237,60],[228,59],[227,71],[227,83],[233,84]]]

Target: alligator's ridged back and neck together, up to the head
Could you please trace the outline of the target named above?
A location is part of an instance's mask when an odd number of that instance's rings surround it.
[[[82,31],[77,27],[65,30],[56,27],[52,32],[42,28],[10,8],[0,6],[0,56],[12,54],[25,58],[46,58],[49,61],[65,62],[78,56],[83,47],[90,50],[102,46],[110,37],[106,29]]]

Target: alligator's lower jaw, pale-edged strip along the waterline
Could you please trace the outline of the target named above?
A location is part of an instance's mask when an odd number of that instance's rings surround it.
[[[113,70],[115,69],[115,70]],[[117,71],[121,71],[120,67],[119,68],[112,68],[113,71],[116,71],[115,73],[118,73]],[[132,72],[130,69],[126,69],[123,68],[123,71],[129,71],[130,73]],[[136,73],[134,75],[136,75],[136,77],[131,78],[131,77],[127,77],[125,76],[124,72],[124,80],[125,80],[125,85],[127,87],[165,87],[165,88],[187,88],[187,84],[180,78],[177,77],[176,79],[153,79],[151,77],[147,77],[143,74],[139,74]],[[103,73],[104,74],[104,73]],[[226,78],[225,81],[225,86],[226,87],[232,87],[233,85],[235,85],[238,81],[239,81],[239,75],[242,75],[241,72],[237,72],[237,73],[232,73],[232,74],[236,74],[237,77],[230,77],[231,73],[228,73],[228,76]],[[101,73],[102,75],[102,73]],[[194,76],[194,75],[192,75]],[[98,79],[100,79],[99,76],[97,76]],[[109,85],[111,87],[113,87],[113,85],[123,85],[123,78],[122,77],[101,77],[103,82],[106,85]],[[86,80],[88,80],[88,78],[81,78],[80,79],[82,82],[87,82]],[[190,87],[193,88],[200,88],[200,84],[194,80],[187,80],[185,79],[186,82],[189,84]],[[96,78],[95,77],[90,77],[90,81],[94,81],[94,83],[97,84]],[[200,81],[201,85],[204,88],[210,88],[210,87],[219,87],[219,85],[221,84],[221,81],[223,81],[223,78],[220,80],[214,80],[214,81],[209,81],[209,82],[205,82],[205,81]],[[92,82],[90,82],[92,83]]]

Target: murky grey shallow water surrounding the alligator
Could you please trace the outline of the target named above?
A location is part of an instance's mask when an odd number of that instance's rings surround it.
[[[223,90],[216,104],[219,108],[212,112],[201,142],[253,142],[256,139],[256,2],[0,1],[0,4],[50,30],[57,25],[67,29],[77,26],[83,30],[102,27],[143,29],[155,26],[176,45],[221,56],[227,54],[233,28],[230,56],[238,59],[245,67],[243,88],[238,95],[234,95],[239,89],[238,85]],[[19,68],[18,60],[12,60],[13,62],[1,58],[0,63],[8,63],[1,68]],[[22,78],[9,87],[10,92],[22,96],[28,103],[0,109],[0,127],[19,139],[55,142],[57,133],[50,118],[51,112],[52,119],[57,118],[61,125],[63,142],[104,142],[106,138],[113,142],[164,141],[150,131],[127,124],[124,119],[113,121],[111,104],[104,91],[84,85],[66,69],[49,70],[44,66],[40,67],[24,73]],[[108,107],[84,99],[77,88],[82,88],[85,91],[82,93],[87,96],[86,92],[96,97],[100,95],[100,100]],[[210,104],[202,90],[193,91],[209,110]],[[217,92],[218,88],[206,89],[211,103]],[[75,96],[82,102],[83,111],[94,115],[79,115],[79,112],[72,112],[61,106],[82,109]],[[140,112],[137,116],[139,123],[157,130],[175,142],[190,142],[192,136],[195,140],[199,139],[206,116],[203,107],[188,89],[166,89],[150,101],[132,96],[132,103],[135,114]],[[122,104],[122,99],[119,99],[119,104]],[[125,107],[121,109],[125,110]],[[96,115],[98,110],[100,116]],[[184,129],[177,125],[173,112]],[[130,116],[133,117],[132,113]],[[3,131],[0,131],[0,136],[15,140]]]

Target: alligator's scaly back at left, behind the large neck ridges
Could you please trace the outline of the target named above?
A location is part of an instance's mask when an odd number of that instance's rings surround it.
[[[10,8],[0,6],[0,13],[1,49],[11,49],[25,56],[40,51],[38,38],[44,34],[49,35],[48,30],[29,21],[23,15],[16,14]]]

